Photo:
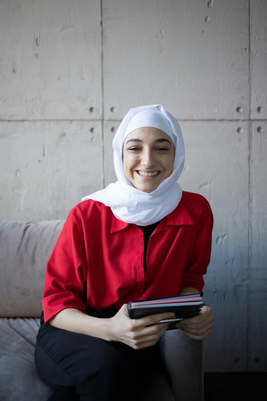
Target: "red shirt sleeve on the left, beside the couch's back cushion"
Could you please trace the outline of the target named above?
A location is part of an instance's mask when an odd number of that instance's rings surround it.
[[[47,264],[42,298],[44,323],[66,308],[86,313],[82,301],[86,281],[84,235],[80,219],[71,210]]]

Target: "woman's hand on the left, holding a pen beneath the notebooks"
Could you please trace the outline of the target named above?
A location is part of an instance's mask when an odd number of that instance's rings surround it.
[[[174,313],[152,314],[140,319],[130,319],[127,304],[124,304],[113,318],[108,319],[110,341],[119,341],[134,349],[155,345],[167,330],[169,323],[155,325],[162,319],[173,318]],[[146,327],[152,325],[150,327]]]

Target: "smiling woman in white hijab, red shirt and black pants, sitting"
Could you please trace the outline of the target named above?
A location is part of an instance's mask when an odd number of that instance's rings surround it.
[[[60,389],[51,400],[129,399],[144,372],[166,374],[157,342],[168,325],[154,323],[173,314],[130,320],[126,305],[204,286],[213,216],[204,197],[177,183],[179,124],[161,104],[130,109],[113,147],[118,181],[71,210],[47,265],[35,362]],[[204,339],[211,309],[176,327]]]

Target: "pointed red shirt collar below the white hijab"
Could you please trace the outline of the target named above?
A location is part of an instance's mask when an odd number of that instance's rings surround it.
[[[167,229],[169,225],[194,224],[182,199],[179,205],[162,220],[164,220],[164,227],[162,226],[162,229]],[[112,225],[110,233],[116,233],[117,231],[120,231],[123,228],[127,227],[127,225],[128,223],[125,223],[125,221],[117,219],[117,217],[114,216],[114,214],[112,213]]]

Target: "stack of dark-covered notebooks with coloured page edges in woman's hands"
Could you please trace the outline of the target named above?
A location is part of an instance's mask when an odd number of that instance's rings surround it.
[[[176,319],[188,319],[196,316],[205,305],[202,302],[202,296],[203,293],[196,293],[129,302],[128,314],[130,319],[139,319],[155,313],[173,312]]]

